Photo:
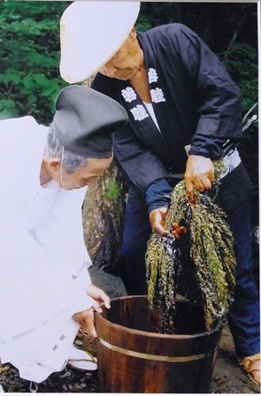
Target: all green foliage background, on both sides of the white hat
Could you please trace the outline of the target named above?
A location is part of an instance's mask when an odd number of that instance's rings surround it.
[[[0,2],[0,118],[32,115],[50,123],[66,85],[58,71],[59,19],[71,3]],[[170,22],[191,27],[219,54],[249,110],[257,102],[257,4],[144,2],[136,27]]]

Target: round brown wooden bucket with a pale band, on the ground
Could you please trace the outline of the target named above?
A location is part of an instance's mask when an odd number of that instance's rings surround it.
[[[177,334],[154,332],[146,296],[121,297],[96,313],[100,392],[207,393],[222,321],[204,331],[203,308],[176,302]]]

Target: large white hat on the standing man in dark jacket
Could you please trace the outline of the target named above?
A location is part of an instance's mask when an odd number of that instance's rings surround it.
[[[140,2],[75,1],[60,20],[62,78],[75,83],[97,72],[119,50],[140,11]]]

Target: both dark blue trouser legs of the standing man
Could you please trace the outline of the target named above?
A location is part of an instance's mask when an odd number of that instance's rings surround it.
[[[226,217],[234,233],[237,261],[234,303],[228,323],[240,357],[257,354],[259,339],[259,297],[252,273],[250,205],[242,202]],[[120,252],[120,276],[129,295],[147,294],[144,257],[151,227],[147,210],[127,202],[127,217]]]

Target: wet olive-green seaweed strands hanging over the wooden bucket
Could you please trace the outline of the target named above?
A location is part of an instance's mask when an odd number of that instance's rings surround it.
[[[215,163],[216,190],[222,160]],[[173,223],[185,222],[188,233],[180,240],[153,233],[146,253],[146,276],[150,308],[157,307],[162,331],[175,332],[176,293],[204,309],[206,330],[226,315],[234,291],[234,239],[224,220],[225,214],[208,194],[195,191],[196,203],[186,194],[185,181],[174,188],[165,227],[171,232]],[[181,240],[186,239],[187,249]],[[187,251],[187,255],[186,255]]]

